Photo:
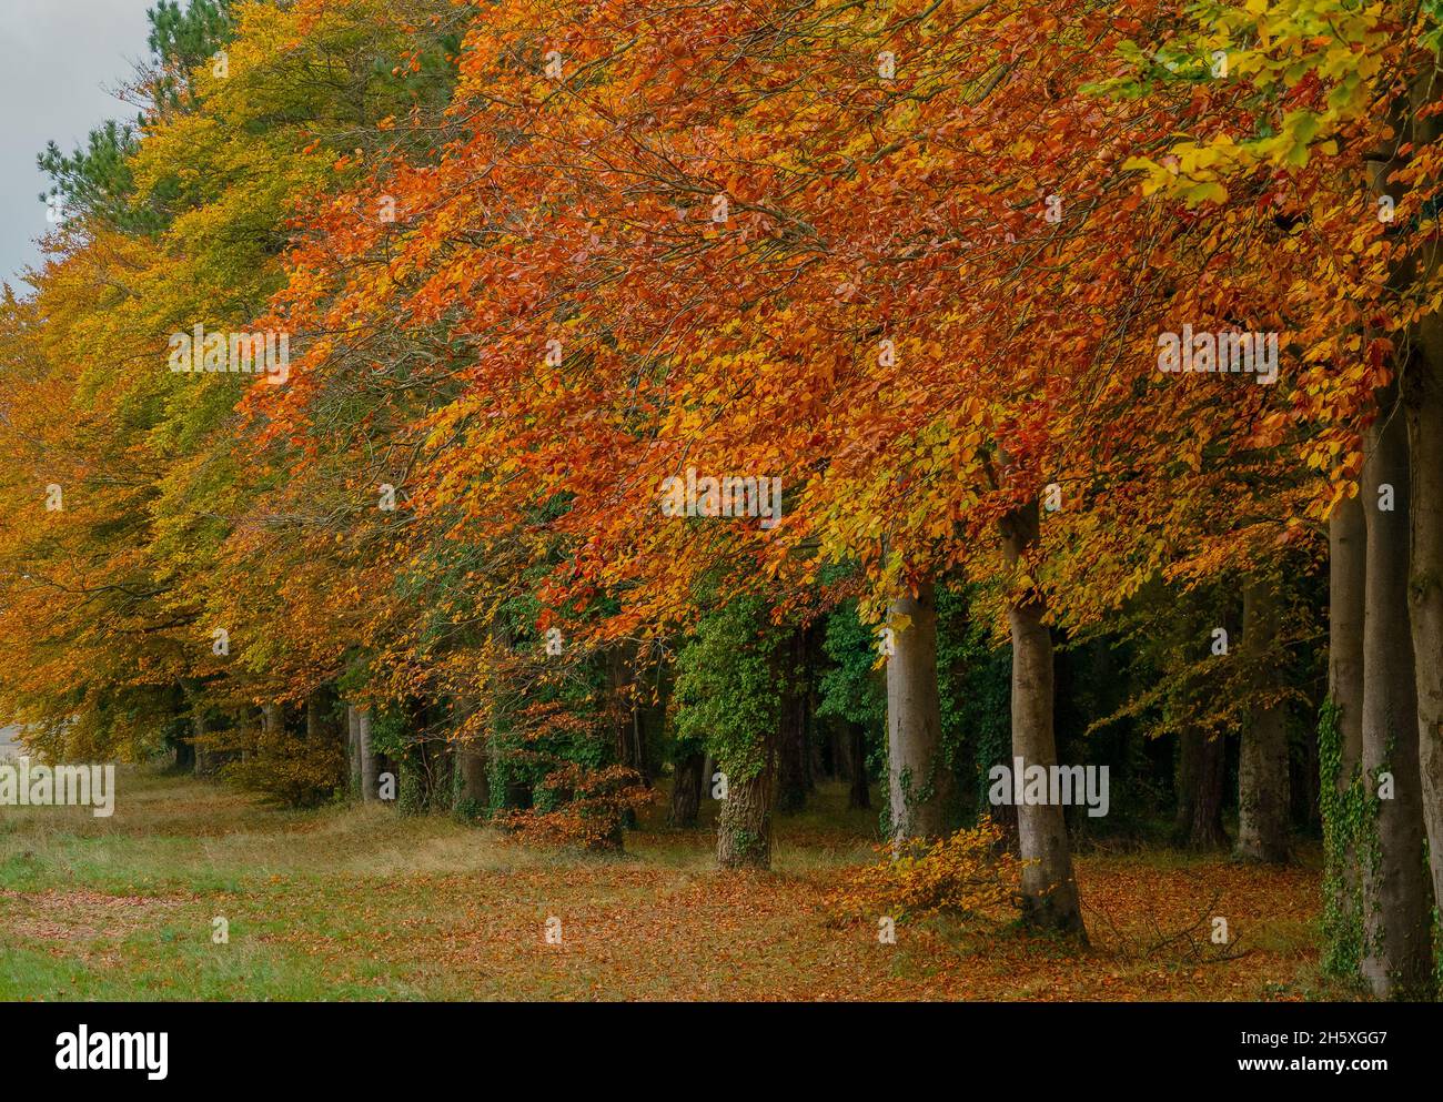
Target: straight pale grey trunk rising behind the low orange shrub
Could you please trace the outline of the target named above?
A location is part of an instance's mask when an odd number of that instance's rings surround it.
[[[906,617],[906,625],[902,625]],[[942,711],[937,688],[937,594],[931,583],[916,597],[887,607],[893,653],[887,656],[887,779],[892,838],[947,834],[952,773],[942,756]]]

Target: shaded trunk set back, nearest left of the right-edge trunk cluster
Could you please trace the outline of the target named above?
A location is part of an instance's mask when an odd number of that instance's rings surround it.
[[[1277,698],[1278,599],[1267,578],[1242,590],[1242,646],[1254,672],[1253,705],[1238,763],[1238,857],[1287,861],[1287,708]]]

